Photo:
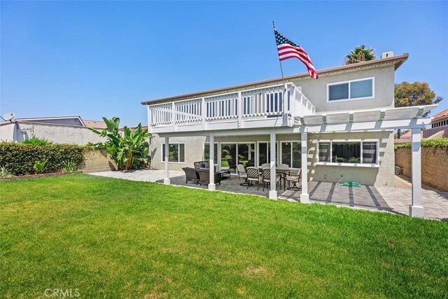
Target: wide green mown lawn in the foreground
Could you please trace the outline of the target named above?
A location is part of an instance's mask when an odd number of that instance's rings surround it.
[[[448,223],[85,174],[0,190],[0,297],[448,296]]]

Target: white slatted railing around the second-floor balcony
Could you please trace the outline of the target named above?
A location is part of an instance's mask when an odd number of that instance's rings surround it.
[[[293,83],[243,90],[169,104],[149,105],[151,127],[204,125],[219,121],[295,117],[316,113],[316,108]],[[289,122],[292,125],[293,122]],[[240,127],[241,124],[239,124]]]

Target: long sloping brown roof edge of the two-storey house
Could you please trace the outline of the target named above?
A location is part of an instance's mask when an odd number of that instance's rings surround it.
[[[409,54],[405,53],[402,55],[396,55],[396,56],[381,58],[381,59],[377,59],[377,60],[358,62],[356,64],[346,64],[346,65],[342,65],[340,67],[332,67],[329,69],[320,69],[317,72],[318,72],[319,76],[323,76],[325,74],[339,73],[339,72],[350,71],[350,70],[354,70],[354,69],[377,67],[381,64],[394,64],[395,69],[398,69],[398,67],[400,67],[401,64],[403,64],[407,60],[407,57],[409,57]],[[309,74],[302,73],[302,74],[286,76],[285,80],[289,81],[292,79],[299,79],[299,78],[309,78]],[[226,88],[217,88],[217,89],[213,89],[213,90],[205,90],[205,91],[201,91],[201,92],[188,93],[185,95],[176,95],[174,97],[164,97],[164,98],[160,98],[160,99],[152,99],[149,101],[141,102],[141,104],[153,105],[153,104],[160,104],[160,103],[165,103],[165,102],[174,102],[175,100],[188,99],[188,98],[192,98],[192,97],[200,97],[202,95],[206,95],[206,94],[210,94],[210,93],[225,92],[228,90],[235,90],[235,89],[239,89],[239,88],[248,88],[253,85],[269,85],[269,84],[273,84],[273,83],[281,82],[281,81],[282,81],[282,78],[280,78],[280,77],[272,78],[272,79],[267,79],[267,80],[263,80],[263,81],[255,81],[255,82],[251,82],[251,83],[245,83],[245,84],[241,84],[241,85],[233,85],[233,86],[229,86]]]

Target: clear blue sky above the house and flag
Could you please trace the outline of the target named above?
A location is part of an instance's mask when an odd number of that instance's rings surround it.
[[[448,108],[448,2],[1,1],[0,113],[118,116],[148,99],[280,76],[272,20],[316,69],[354,46],[409,53],[395,82],[427,81]],[[285,75],[306,71],[283,62]],[[312,100],[312,95],[307,95]]]

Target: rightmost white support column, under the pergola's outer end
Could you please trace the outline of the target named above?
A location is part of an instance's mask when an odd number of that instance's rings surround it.
[[[412,129],[412,204],[409,216],[423,218],[421,205],[421,130]]]

